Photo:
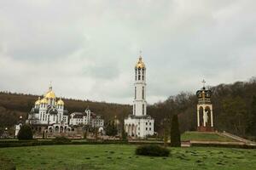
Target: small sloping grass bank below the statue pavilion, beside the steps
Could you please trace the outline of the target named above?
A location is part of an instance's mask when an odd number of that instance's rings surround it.
[[[199,141],[219,141],[219,142],[237,142],[217,133],[199,133],[199,132],[185,132],[181,136],[182,141],[185,140],[199,140]]]

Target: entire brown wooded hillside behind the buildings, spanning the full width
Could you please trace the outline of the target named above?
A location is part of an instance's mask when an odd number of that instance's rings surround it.
[[[212,89],[214,126],[219,131],[227,131],[240,136],[256,136],[256,78],[248,82],[219,84]],[[38,99],[36,95],[0,93],[0,128],[13,127],[19,116],[26,117]],[[107,122],[117,116],[123,120],[131,114],[131,105],[108,104],[104,102],[63,99],[65,108],[73,111],[84,111],[89,105],[96,114]],[[181,131],[196,129],[195,92],[180,93],[170,96],[166,101],[148,105],[148,115],[153,116],[154,130],[161,133],[164,125],[170,124],[173,114],[178,114]],[[163,120],[166,118],[166,121]],[[168,128],[170,126],[166,126]],[[0,130],[1,131],[1,130]],[[0,132],[1,133],[1,132]]]

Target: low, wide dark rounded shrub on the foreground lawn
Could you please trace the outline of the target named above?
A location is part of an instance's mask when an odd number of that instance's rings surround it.
[[[137,147],[136,154],[141,156],[169,156],[170,150],[157,144],[148,144]]]

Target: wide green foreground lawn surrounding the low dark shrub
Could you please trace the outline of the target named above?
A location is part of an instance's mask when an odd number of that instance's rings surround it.
[[[150,157],[136,156],[136,147],[83,144],[1,148],[0,169],[12,163],[17,169],[256,169],[256,150],[170,148],[169,157]]]

